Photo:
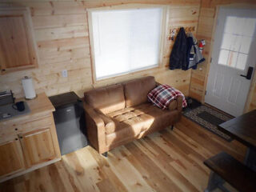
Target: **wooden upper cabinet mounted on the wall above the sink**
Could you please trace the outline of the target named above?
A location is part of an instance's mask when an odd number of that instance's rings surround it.
[[[0,7],[1,73],[38,66],[36,44],[26,7]]]

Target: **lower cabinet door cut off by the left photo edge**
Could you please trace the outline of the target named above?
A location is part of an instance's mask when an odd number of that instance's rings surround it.
[[[0,177],[24,169],[22,147],[18,138],[0,144]]]

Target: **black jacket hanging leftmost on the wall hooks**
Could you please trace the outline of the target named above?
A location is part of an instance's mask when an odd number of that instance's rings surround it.
[[[186,33],[183,27],[178,31],[176,40],[174,42],[173,50],[170,54],[170,70],[182,69],[186,70],[187,67],[187,49],[188,42]]]

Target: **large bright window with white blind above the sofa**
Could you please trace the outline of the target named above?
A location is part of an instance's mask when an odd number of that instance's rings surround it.
[[[89,10],[96,80],[159,66],[165,21],[163,6]]]

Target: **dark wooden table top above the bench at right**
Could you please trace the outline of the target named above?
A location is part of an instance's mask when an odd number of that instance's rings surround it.
[[[244,145],[256,149],[256,110],[218,125],[218,129]]]

